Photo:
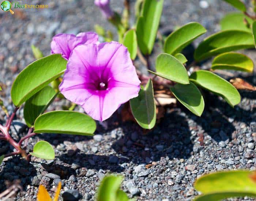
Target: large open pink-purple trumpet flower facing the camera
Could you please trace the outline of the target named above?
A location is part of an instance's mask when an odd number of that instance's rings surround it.
[[[104,121],[138,96],[140,80],[125,46],[106,42],[77,46],[69,57],[60,92]]]

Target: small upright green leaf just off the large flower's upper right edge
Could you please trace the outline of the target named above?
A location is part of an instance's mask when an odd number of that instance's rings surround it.
[[[131,59],[135,60],[137,55],[137,36],[135,30],[131,29],[124,34],[124,46],[127,47]]]

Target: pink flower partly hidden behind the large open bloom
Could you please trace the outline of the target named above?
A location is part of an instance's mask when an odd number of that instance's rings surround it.
[[[74,34],[57,34],[52,38],[51,54],[62,54],[68,60],[72,50],[82,44],[97,43],[98,35],[94,32]]]

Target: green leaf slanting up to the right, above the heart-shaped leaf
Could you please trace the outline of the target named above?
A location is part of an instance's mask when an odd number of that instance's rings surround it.
[[[164,52],[172,55],[180,53],[182,49],[204,33],[206,33],[206,29],[197,22],[185,24],[166,38]]]

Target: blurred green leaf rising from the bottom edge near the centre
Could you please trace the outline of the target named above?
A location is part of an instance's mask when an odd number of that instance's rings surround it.
[[[120,190],[122,176],[109,175],[102,179],[97,192],[97,201],[128,201],[128,196]]]

